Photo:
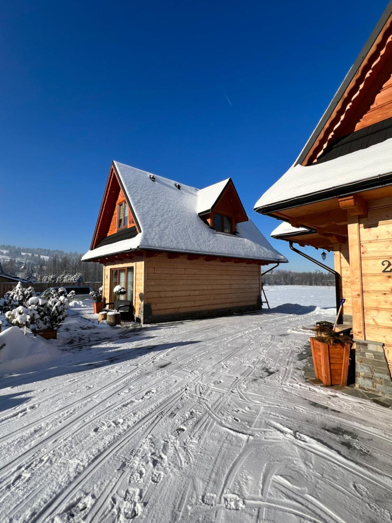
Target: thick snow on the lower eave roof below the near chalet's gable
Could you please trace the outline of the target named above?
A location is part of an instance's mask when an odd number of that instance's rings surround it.
[[[330,190],[348,188],[351,184],[392,173],[392,138],[367,149],[355,151],[335,160],[308,166],[293,165],[259,198],[255,210],[272,204],[290,204],[298,198]]]

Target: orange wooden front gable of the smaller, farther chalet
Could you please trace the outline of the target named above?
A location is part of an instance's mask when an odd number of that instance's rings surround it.
[[[93,241],[90,249],[94,249],[104,238],[117,232],[117,206],[122,201],[128,204],[128,228],[135,228],[141,231],[139,223],[135,218],[135,213],[129,202],[129,197],[121,184],[120,177],[114,165],[111,166],[105,192],[103,193],[102,203],[95,226]]]

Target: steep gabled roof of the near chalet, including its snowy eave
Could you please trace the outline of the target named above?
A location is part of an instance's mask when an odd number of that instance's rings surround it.
[[[391,75],[392,0],[301,154],[255,210],[273,213],[392,184],[390,98],[377,123],[362,121]]]

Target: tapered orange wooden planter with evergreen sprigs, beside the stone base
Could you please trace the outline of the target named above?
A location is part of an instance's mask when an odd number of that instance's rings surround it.
[[[325,385],[347,385],[351,336],[334,331],[331,322],[317,322],[310,338],[316,377]]]

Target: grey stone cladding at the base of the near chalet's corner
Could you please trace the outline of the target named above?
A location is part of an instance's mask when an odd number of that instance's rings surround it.
[[[392,380],[382,344],[355,344],[355,386],[392,398]]]

